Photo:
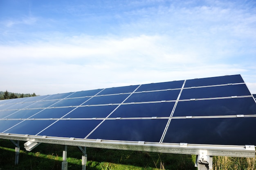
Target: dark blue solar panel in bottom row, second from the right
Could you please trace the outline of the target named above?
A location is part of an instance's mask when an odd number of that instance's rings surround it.
[[[106,120],[88,139],[159,142],[168,119]]]

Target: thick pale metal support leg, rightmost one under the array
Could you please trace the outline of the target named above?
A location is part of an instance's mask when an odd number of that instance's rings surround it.
[[[206,150],[200,150],[200,155],[196,156],[195,167],[198,170],[213,170],[213,157],[207,155]]]

